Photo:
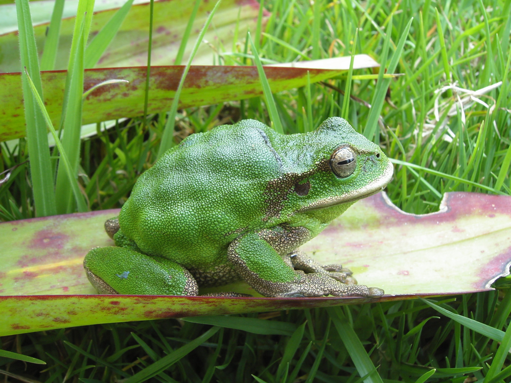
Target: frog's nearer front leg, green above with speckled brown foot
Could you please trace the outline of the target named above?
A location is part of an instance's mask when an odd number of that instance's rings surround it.
[[[304,238],[297,241],[297,238],[293,237],[293,234],[299,231],[299,228],[276,227],[271,232],[264,229],[247,233],[229,245],[227,258],[243,279],[266,297],[383,295],[383,290],[378,288],[344,284],[330,276],[323,268],[321,272],[308,274],[303,270],[294,270],[292,265],[288,264],[291,260],[280,254],[289,253],[289,247],[304,241]]]

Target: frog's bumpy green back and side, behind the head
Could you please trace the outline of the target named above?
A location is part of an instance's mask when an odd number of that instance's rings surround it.
[[[184,267],[221,263],[235,236],[262,224],[266,185],[282,173],[273,134],[249,120],[183,140],[138,179],[121,230]]]

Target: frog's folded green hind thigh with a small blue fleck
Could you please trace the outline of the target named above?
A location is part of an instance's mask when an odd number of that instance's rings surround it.
[[[197,295],[195,279],[169,259],[121,247],[89,251],[83,266],[100,294]]]

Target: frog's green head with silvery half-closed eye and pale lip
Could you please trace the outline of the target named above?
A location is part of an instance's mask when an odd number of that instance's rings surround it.
[[[355,201],[380,192],[392,177],[392,164],[380,147],[340,117],[296,135],[289,147],[283,155],[291,171],[268,185],[267,195],[273,198],[267,217],[317,210],[328,221]]]

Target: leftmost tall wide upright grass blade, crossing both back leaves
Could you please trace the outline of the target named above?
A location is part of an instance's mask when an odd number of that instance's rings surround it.
[[[27,68],[35,81],[37,92],[42,95],[37,47],[32,29],[32,18],[28,0],[16,2],[19,27],[19,50],[21,65]],[[30,154],[30,171],[36,217],[53,216],[57,213],[53,189],[50,148],[44,118],[36,106],[25,71],[21,74],[27,121],[27,140]]]

